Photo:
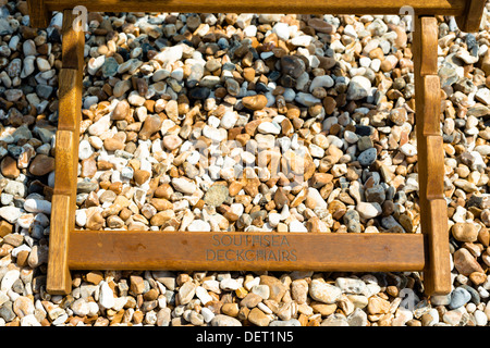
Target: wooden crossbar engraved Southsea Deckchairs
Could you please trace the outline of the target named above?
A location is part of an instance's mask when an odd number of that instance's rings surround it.
[[[421,271],[421,234],[72,231],[72,270]]]

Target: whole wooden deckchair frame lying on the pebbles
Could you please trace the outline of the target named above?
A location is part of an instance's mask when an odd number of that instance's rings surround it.
[[[434,16],[454,15],[462,30],[476,32],[485,0],[28,0],[27,3],[34,27],[46,27],[51,11],[63,11],[48,293],[69,294],[71,270],[421,271],[427,295],[451,291]],[[399,14],[402,7],[412,7],[421,234],[75,229],[84,66],[84,33],[72,26],[75,18],[72,9],[76,5],[90,12],[306,14]]]

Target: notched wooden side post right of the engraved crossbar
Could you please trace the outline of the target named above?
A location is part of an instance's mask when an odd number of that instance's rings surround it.
[[[451,291],[436,17],[417,15],[413,34],[420,225],[427,257],[424,284],[430,296]]]

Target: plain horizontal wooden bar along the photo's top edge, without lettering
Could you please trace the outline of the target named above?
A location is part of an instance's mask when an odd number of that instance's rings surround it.
[[[465,0],[46,0],[51,11],[84,5],[94,12],[234,12],[234,13],[329,13],[329,14],[399,14],[402,7],[412,7],[418,14],[462,15]]]

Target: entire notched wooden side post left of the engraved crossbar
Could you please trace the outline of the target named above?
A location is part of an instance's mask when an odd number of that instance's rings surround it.
[[[59,78],[59,121],[56,141],[54,192],[47,290],[53,295],[71,291],[69,269],[70,231],[75,224],[76,179],[78,165],[79,120],[82,117],[82,78],[84,63],[84,32],[75,30],[75,16],[63,12],[62,69]]]

